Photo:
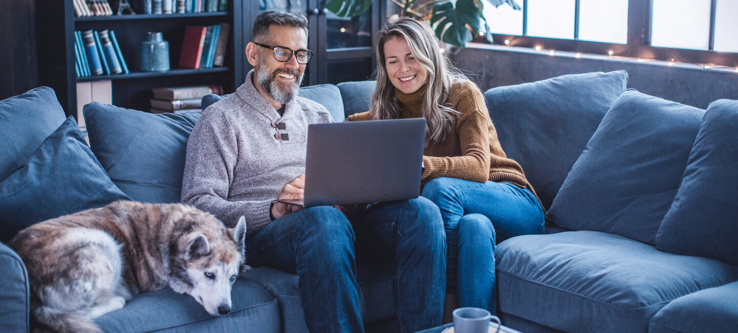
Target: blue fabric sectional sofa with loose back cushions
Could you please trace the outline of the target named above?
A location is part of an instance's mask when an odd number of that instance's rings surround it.
[[[546,234],[497,245],[498,310],[521,332],[720,332],[738,327],[738,101],[705,111],[627,90],[627,73],[485,92],[509,157],[547,209]],[[368,109],[371,81],[300,95],[334,120]],[[204,97],[204,105],[220,97]],[[178,202],[199,113],[85,106],[89,145],[49,88],[0,101],[0,241],[115,199]],[[391,265],[359,265],[365,327],[393,332]],[[110,332],[305,332],[297,276],[259,267],[210,317],[171,290],[98,318]],[[0,331],[27,332],[28,277],[0,244]]]

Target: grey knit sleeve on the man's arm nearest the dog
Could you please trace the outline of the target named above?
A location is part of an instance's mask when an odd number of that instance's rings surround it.
[[[227,200],[237,158],[238,142],[227,116],[203,114],[187,140],[182,203],[213,213],[227,227],[246,216],[246,233],[250,235],[271,222],[271,201]]]

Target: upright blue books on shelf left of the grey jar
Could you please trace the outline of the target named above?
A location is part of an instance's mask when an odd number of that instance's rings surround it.
[[[128,74],[128,66],[113,30],[75,31],[75,59],[77,78]]]

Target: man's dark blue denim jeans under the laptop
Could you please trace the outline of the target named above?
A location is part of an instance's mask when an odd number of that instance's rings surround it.
[[[311,332],[364,332],[356,262],[393,263],[400,332],[441,325],[446,235],[438,207],[425,198],[370,205],[346,218],[334,207],[301,209],[246,239],[246,263],[300,277]]]

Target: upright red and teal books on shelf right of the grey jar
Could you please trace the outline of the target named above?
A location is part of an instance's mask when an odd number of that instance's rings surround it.
[[[179,66],[195,69],[223,66],[229,31],[227,23],[184,28]]]

